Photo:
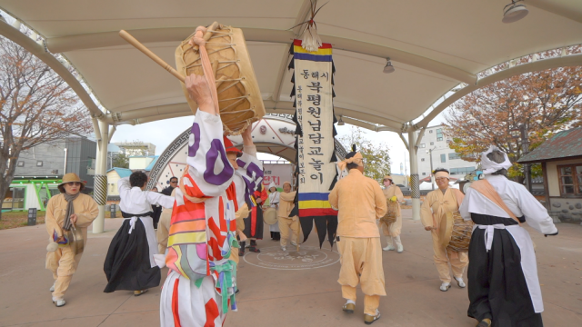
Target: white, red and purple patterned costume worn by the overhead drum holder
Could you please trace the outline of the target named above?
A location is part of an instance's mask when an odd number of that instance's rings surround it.
[[[237,159],[235,172],[222,131],[219,116],[196,112],[188,170],[176,188],[168,237],[162,326],[222,326],[228,309],[236,311],[236,263],[230,257],[238,248],[235,213],[250,199],[263,172],[248,154]]]

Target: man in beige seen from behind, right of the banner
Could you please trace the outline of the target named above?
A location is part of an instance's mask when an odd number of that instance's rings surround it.
[[[364,293],[364,322],[371,324],[380,318],[380,296],[386,296],[382,244],[377,220],[386,214],[386,199],[378,183],[364,175],[362,154],[351,152],[338,163],[339,170],[348,173],[337,181],[329,193],[329,204],[337,208],[336,243],[339,251],[339,279],[343,311],[356,309],[356,286]]]

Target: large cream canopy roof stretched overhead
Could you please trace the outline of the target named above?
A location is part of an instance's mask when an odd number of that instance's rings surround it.
[[[582,54],[568,48],[582,44],[582,1],[527,0],[529,15],[504,24],[503,8],[509,2],[331,0],[316,24],[322,40],[334,47],[336,114],[346,123],[402,132],[413,120],[414,128],[426,126],[478,86],[513,74],[582,64]],[[299,29],[287,29],[306,20],[308,0],[0,0],[0,9],[44,37],[45,47],[2,22],[0,33],[42,57],[95,117],[110,124],[191,114],[175,77],[126,45],[117,32],[127,30],[174,64],[179,42],[197,25],[213,21],[243,28],[267,112],[293,112],[286,67]],[[555,48],[564,51],[544,60],[532,56],[497,74],[479,74]],[[81,74],[83,84],[55,60],[53,54],[59,53]],[[395,73],[383,74],[386,57]],[[456,94],[450,92],[454,88]]]

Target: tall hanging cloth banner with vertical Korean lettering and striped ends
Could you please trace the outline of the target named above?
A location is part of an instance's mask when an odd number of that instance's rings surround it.
[[[296,207],[304,242],[316,223],[319,246],[326,233],[333,246],[337,229],[337,212],[328,201],[336,183],[336,116],[333,89],[334,64],[330,44],[316,52],[308,52],[295,40],[291,48],[294,58],[292,82],[296,115]]]

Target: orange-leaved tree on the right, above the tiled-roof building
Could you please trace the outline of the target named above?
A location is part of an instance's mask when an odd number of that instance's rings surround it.
[[[553,53],[542,54],[549,55]],[[474,162],[495,144],[514,163],[509,176],[521,180],[522,167],[516,162],[523,155],[524,141],[531,151],[559,131],[582,126],[581,84],[582,66],[572,66],[512,76],[467,94],[445,115],[446,134],[452,138],[449,147]],[[527,140],[521,138],[521,128]],[[533,174],[539,173],[534,167]]]

